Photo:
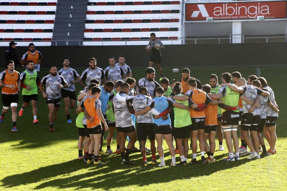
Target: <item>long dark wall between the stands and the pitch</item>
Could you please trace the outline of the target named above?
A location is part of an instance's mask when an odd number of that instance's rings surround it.
[[[5,67],[5,50],[0,47],[1,66]],[[99,67],[108,65],[108,58],[119,54],[126,56],[130,66],[147,66],[150,52],[144,46],[40,46],[44,58],[41,67],[62,66],[64,57],[69,56],[71,67],[87,67],[88,58],[94,57]],[[16,47],[20,60],[27,47]],[[166,45],[162,50],[164,66],[208,66],[208,65],[260,65],[286,64],[287,43],[246,44],[187,44]],[[19,67],[19,66],[18,66]]]

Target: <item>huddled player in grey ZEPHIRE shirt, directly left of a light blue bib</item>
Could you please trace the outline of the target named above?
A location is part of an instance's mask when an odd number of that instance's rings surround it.
[[[146,105],[151,100],[151,97],[147,96],[148,90],[146,87],[140,87],[139,95],[137,96],[129,96],[129,97],[122,97],[117,94],[117,99],[122,102],[132,103],[134,109],[136,111],[140,111],[141,109],[146,108]],[[146,138],[147,136],[151,142],[151,153],[152,153],[152,161],[151,164],[156,165],[158,162],[155,160],[155,135],[153,133],[153,122],[152,122],[152,113],[150,111],[146,112],[145,114],[138,115],[136,118],[137,124],[137,139],[140,141],[141,145],[141,155],[143,158],[143,165],[147,166],[146,161]]]

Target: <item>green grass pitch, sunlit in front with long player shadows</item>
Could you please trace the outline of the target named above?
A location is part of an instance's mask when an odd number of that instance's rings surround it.
[[[59,64],[60,66],[60,64]],[[71,66],[72,67],[72,66]],[[181,71],[184,67],[178,67]],[[275,92],[280,115],[277,120],[277,154],[260,160],[224,162],[227,157],[227,147],[223,140],[225,151],[216,151],[216,163],[196,164],[186,166],[167,166],[165,168],[149,165],[142,166],[140,153],[132,153],[130,158],[136,165],[121,165],[120,156],[113,154],[102,156],[106,165],[87,165],[78,160],[78,130],[75,126],[76,112],[71,110],[72,124],[67,123],[64,102],[62,102],[58,117],[55,121],[54,132],[49,131],[48,108],[41,93],[38,96],[38,120],[32,123],[31,105],[25,109],[21,118],[17,119],[17,133],[12,133],[11,110],[5,115],[4,123],[0,124],[0,189],[9,190],[286,190],[287,188],[287,109],[285,107],[285,82],[287,66],[212,66],[191,67],[191,74],[202,84],[208,83],[210,74],[215,73],[221,79],[223,72],[239,71],[242,77],[257,75],[256,68],[260,68],[261,76],[267,79]],[[23,71],[18,68],[19,72]],[[59,67],[60,69],[60,67]],[[84,68],[75,68],[80,74]],[[172,73],[170,67],[164,67],[164,75],[170,81],[180,79],[181,73]],[[2,70],[1,70],[2,71]],[[40,76],[48,74],[47,68],[41,68]],[[145,68],[132,68],[136,80],[144,77]],[[156,75],[158,80],[159,75]],[[219,81],[221,81],[219,79]],[[221,82],[219,82],[221,83]],[[81,88],[77,85],[77,91]],[[20,96],[18,111],[22,105]],[[105,134],[106,137],[107,133]],[[149,144],[149,143],[147,143]],[[269,149],[267,141],[266,148]],[[116,149],[115,136],[112,149]],[[136,142],[138,147],[138,142]],[[170,164],[171,157],[165,144],[165,162]],[[103,150],[106,149],[104,141]],[[198,150],[199,151],[199,150]],[[156,155],[159,160],[158,155]],[[189,151],[189,159],[191,159]],[[200,153],[198,153],[198,160]],[[151,161],[151,152],[147,153],[147,160]],[[180,161],[176,155],[177,163]]]

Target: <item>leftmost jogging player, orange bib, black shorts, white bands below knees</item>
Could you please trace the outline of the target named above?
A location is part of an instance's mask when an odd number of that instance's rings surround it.
[[[17,132],[17,106],[20,91],[20,73],[14,70],[14,62],[9,60],[7,62],[7,69],[0,73],[0,86],[2,87],[2,113],[0,115],[0,123],[4,121],[4,115],[8,112],[11,106],[12,111],[12,132]]]

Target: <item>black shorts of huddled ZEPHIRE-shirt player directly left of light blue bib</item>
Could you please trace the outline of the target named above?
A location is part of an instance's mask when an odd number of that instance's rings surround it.
[[[136,123],[136,137],[138,141],[146,141],[148,136],[149,140],[155,140],[153,133],[153,123]]]

